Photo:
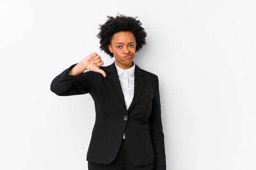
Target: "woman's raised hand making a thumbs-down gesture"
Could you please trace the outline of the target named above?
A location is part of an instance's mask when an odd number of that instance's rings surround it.
[[[101,60],[101,57],[96,52],[93,52],[80,61],[80,63],[78,63],[74,68],[72,68],[72,70],[70,70],[70,74],[78,75],[83,73],[85,70],[90,70],[93,72],[99,72],[106,77],[106,73],[99,69],[99,67],[103,64],[104,62]]]

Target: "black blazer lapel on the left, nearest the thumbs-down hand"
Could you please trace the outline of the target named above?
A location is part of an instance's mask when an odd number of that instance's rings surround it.
[[[115,67],[115,63],[109,65],[109,67],[106,68],[106,72],[107,72],[106,77],[108,77],[108,80],[110,81],[111,85],[113,86],[119,98],[122,100],[122,102],[124,103],[124,106],[126,107],[125,101],[124,101],[124,94],[123,94],[122,87],[117,75],[117,68]]]

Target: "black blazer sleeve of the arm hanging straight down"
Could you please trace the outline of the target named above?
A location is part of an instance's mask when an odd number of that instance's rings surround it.
[[[155,150],[155,170],[166,170],[158,78],[155,81],[155,96],[153,98],[153,107],[149,117],[149,124],[151,140]]]

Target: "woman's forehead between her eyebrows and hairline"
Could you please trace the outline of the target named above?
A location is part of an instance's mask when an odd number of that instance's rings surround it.
[[[133,33],[131,32],[118,32],[115,33],[112,37],[111,42],[120,42],[120,43],[124,43],[124,42],[135,42],[136,39],[133,35]]]

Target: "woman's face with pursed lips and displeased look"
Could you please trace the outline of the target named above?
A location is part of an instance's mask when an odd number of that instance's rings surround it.
[[[114,54],[118,67],[122,69],[132,67],[132,60],[135,57],[136,50],[136,39],[132,33],[115,33],[111,44],[108,45],[108,49]]]

